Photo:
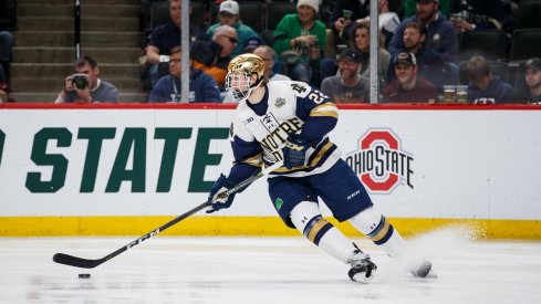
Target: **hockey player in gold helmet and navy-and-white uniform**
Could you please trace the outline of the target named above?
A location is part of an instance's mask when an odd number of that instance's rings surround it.
[[[239,102],[230,130],[235,163],[229,175],[220,175],[210,189],[207,212],[229,208],[235,193],[220,193],[261,166],[283,160],[283,167],[272,172],[268,182],[270,198],[284,223],[348,263],[352,281],[366,283],[376,265],[321,216],[318,198],[339,221],[350,221],[391,256],[406,252],[404,239],[374,210],[358,177],[330,141],[327,134],[337,122],[332,101],[306,83],[268,82],[263,64],[253,54],[241,54],[229,63],[226,90]],[[429,262],[419,261],[410,272],[424,277],[430,268]]]

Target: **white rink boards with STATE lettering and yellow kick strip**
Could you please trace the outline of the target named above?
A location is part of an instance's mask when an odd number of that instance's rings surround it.
[[[0,105],[0,235],[127,235],[162,226],[204,202],[228,172],[233,109]],[[538,106],[347,105],[331,139],[406,235],[468,223],[485,238],[541,239],[540,130]],[[164,234],[296,235],[275,217],[266,186]]]

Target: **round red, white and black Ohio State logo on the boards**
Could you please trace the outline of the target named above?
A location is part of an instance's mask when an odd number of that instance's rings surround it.
[[[391,193],[400,184],[414,188],[414,157],[402,150],[400,138],[391,129],[368,129],[358,139],[358,148],[345,160],[371,192]]]

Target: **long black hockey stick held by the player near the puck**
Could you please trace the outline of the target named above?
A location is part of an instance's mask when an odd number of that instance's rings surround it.
[[[245,187],[248,187],[250,184],[252,184],[253,181],[258,180],[259,178],[261,178],[262,176],[266,176],[272,171],[274,171],[275,169],[280,168],[282,166],[282,161],[279,161],[263,170],[261,170],[260,172],[258,172],[257,175],[254,176],[251,176],[245,180],[242,180],[241,182],[237,184],[236,186],[233,186],[231,189],[227,190],[226,192],[221,193],[220,196],[229,196],[229,195],[232,195],[235,192],[238,192],[240,191],[241,189],[243,189]],[[60,263],[60,264],[64,264],[64,265],[69,265],[69,266],[74,266],[74,268],[82,268],[82,269],[93,269],[97,265],[101,265],[102,263],[115,258],[116,255],[123,253],[124,251],[135,247],[135,245],[138,245],[141,244],[143,241],[146,241],[148,239],[150,239],[152,237],[155,237],[156,234],[158,234],[159,232],[166,230],[167,228],[176,224],[177,222],[188,218],[189,216],[205,209],[206,207],[210,206],[211,203],[209,201],[206,201],[197,207],[195,207],[194,209],[189,210],[188,212],[181,214],[181,216],[178,216],[177,218],[168,221],[167,223],[165,223],[164,226],[146,233],[145,235],[138,238],[137,240],[119,248],[118,250],[103,256],[102,259],[96,259],[96,260],[90,260],[90,259],[83,259],[83,258],[77,258],[77,256],[73,256],[73,255],[70,255],[70,254],[65,254],[65,253],[55,253],[53,255],[53,261],[56,262],[56,263]]]

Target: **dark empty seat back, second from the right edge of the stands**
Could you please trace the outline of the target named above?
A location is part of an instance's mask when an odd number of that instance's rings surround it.
[[[487,60],[507,61],[507,36],[501,30],[475,30],[460,33],[458,60],[478,54]]]

